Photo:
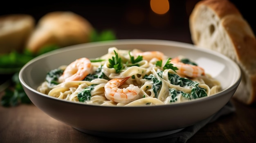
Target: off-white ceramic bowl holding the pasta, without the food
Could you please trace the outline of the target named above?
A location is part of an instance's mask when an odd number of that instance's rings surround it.
[[[206,73],[218,79],[223,90],[216,95],[185,103],[146,107],[85,105],[36,91],[49,70],[67,65],[78,57],[100,57],[114,46],[118,49],[162,51],[170,57],[189,57],[202,66]],[[178,132],[218,112],[236,91],[241,73],[237,64],[229,58],[214,51],[196,48],[192,44],[166,40],[114,40],[69,46],[41,55],[20,70],[19,78],[34,105],[50,117],[77,130],[99,136],[146,138]]]

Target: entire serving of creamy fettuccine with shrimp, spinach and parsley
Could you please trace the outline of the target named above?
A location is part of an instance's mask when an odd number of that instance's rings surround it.
[[[116,47],[96,59],[81,57],[49,71],[39,92],[100,106],[156,106],[209,97],[220,83],[196,63],[159,51]]]

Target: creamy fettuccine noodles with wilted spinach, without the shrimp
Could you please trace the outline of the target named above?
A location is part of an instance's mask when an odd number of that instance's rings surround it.
[[[110,68],[110,61],[115,57],[115,52],[121,58],[123,68],[119,73],[115,68]],[[221,90],[220,83],[208,74],[197,77],[187,77],[178,74],[172,68],[163,68],[168,61],[164,55],[162,59],[155,58],[152,54],[151,60],[142,59],[132,65],[131,57],[136,59],[136,53],[142,53],[137,49],[133,51],[120,50],[115,47],[109,48],[108,53],[99,57],[96,62],[91,62],[92,69],[89,75],[79,81],[63,81],[52,84],[44,81],[38,91],[46,95],[74,102],[102,106],[154,106],[180,103],[193,99],[208,97]],[[143,55],[142,55],[143,57]],[[161,61],[162,66],[157,66]],[[133,63],[134,64],[134,63]],[[65,70],[67,66],[60,65],[60,69]],[[59,75],[61,76],[61,74]],[[110,79],[128,78],[119,88],[126,88],[129,85],[139,87],[138,95],[134,101],[128,103],[117,103],[106,98],[104,86]],[[79,97],[79,93],[87,95]],[[205,95],[204,95],[205,94]],[[126,100],[125,98],[120,100]]]

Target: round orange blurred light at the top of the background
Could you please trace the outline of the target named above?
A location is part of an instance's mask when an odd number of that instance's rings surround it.
[[[150,0],[150,7],[157,14],[167,13],[170,9],[168,0]]]

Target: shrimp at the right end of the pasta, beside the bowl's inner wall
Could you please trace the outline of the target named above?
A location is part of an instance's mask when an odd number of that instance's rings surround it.
[[[180,75],[185,75],[187,77],[199,77],[204,75],[204,69],[202,67],[192,64],[184,64],[178,57],[171,59],[171,64],[178,68],[176,72]]]

